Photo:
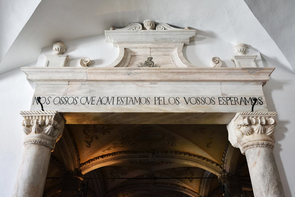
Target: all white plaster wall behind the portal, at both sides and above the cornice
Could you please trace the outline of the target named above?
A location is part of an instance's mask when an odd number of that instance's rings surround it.
[[[111,64],[117,57],[119,51],[113,48],[112,44],[104,41],[104,36],[93,36],[82,39],[67,41],[70,61],[67,66],[80,66],[81,57],[90,57],[95,67],[103,67]],[[223,61],[223,66],[233,67],[230,61],[234,55],[233,44],[222,40],[217,40],[205,36],[197,36],[196,42],[192,42],[184,48],[188,61],[196,66],[209,66],[210,60],[218,56]],[[52,54],[52,47],[42,49],[37,66],[44,66],[44,54]],[[254,49],[250,49],[249,54],[258,55],[258,66],[262,66],[261,57]],[[274,54],[275,55],[275,54]],[[273,62],[273,59],[262,56],[265,67],[277,67],[271,75],[271,80],[265,85],[264,92],[269,110],[277,111],[278,125],[276,128],[276,145],[274,149],[275,159],[286,197],[295,196],[295,121],[294,109],[295,97],[294,74],[286,65]],[[28,65],[33,66],[35,63]],[[25,74],[19,69],[0,75],[0,110],[2,125],[2,143],[0,148],[0,196],[11,196],[15,179],[20,166],[23,146],[23,132],[21,128],[22,117],[19,111],[29,110],[33,89],[26,81]],[[265,180],[267,181],[267,180]]]

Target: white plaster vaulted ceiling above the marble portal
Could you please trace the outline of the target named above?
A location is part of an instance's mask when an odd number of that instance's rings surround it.
[[[125,27],[145,19],[245,43],[266,61],[292,70],[294,8],[295,2],[287,0],[3,0],[0,73],[36,61],[41,49],[56,41],[104,34],[111,25]]]

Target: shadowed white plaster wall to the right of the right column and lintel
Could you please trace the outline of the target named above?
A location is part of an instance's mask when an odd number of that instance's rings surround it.
[[[273,153],[285,196],[292,197],[295,196],[295,76],[281,65],[264,63],[267,67],[276,67],[269,82],[263,87],[263,92],[268,110],[278,113]]]

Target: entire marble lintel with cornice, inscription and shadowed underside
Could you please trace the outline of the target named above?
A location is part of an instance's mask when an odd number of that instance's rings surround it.
[[[37,97],[41,97],[44,110],[61,112],[68,124],[107,121],[227,124],[236,112],[251,111],[253,98],[258,99],[255,111],[267,111],[262,86],[273,71],[269,68],[23,70],[36,85],[30,110],[41,109],[37,104]],[[153,117],[147,119],[148,114]],[[216,114],[218,118],[212,120]]]

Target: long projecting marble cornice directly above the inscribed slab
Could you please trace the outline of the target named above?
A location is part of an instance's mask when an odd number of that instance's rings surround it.
[[[80,68],[22,67],[29,81],[257,82],[265,85],[274,68]]]

